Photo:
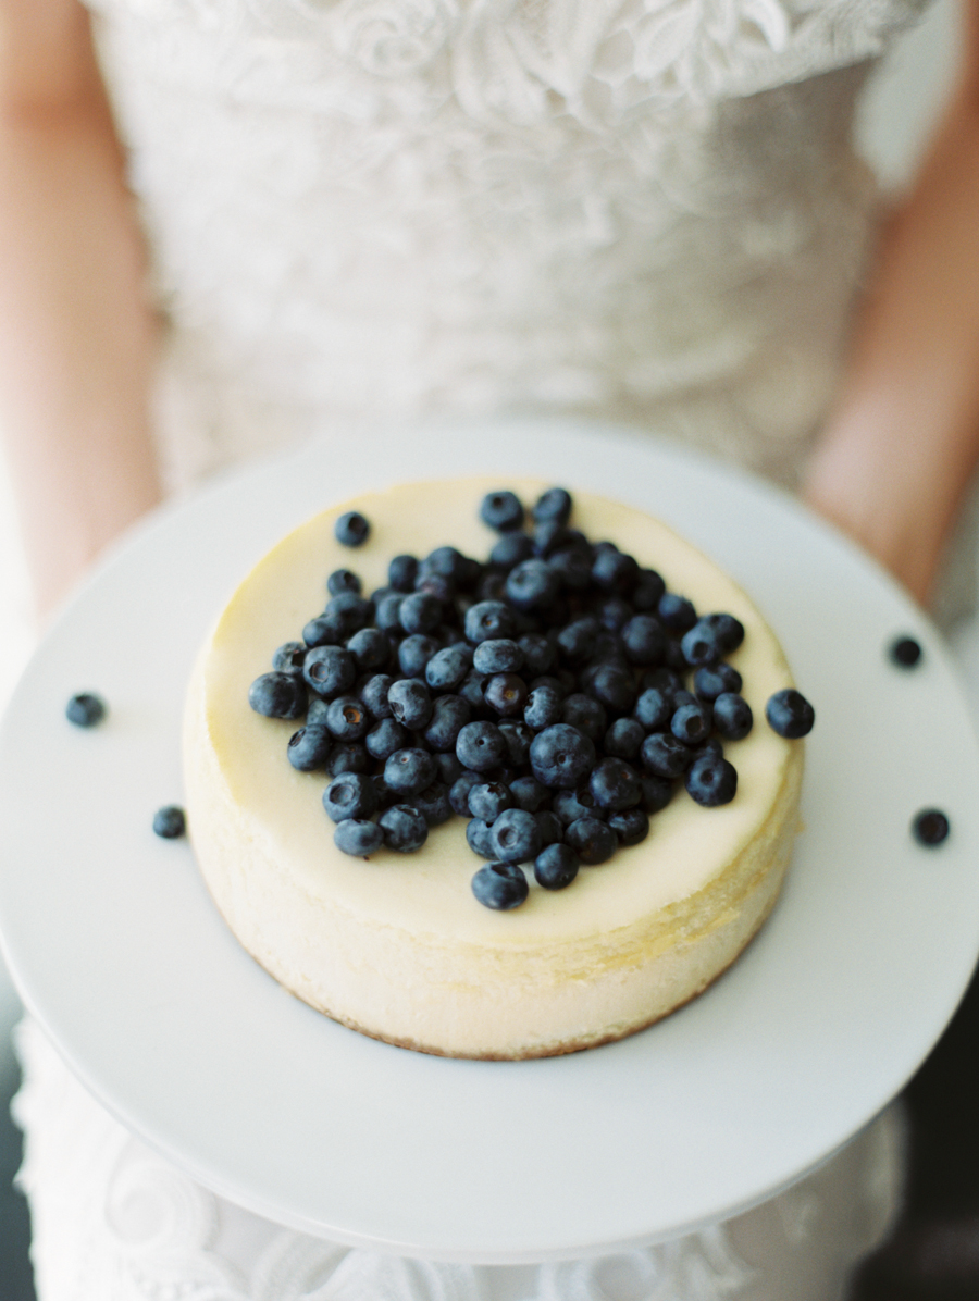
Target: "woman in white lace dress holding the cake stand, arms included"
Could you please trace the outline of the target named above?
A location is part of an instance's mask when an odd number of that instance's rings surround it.
[[[913,7],[716,9],[0,0],[0,424],[40,617],[218,466],[395,414],[512,410],[737,459],[959,613],[979,4],[918,181],[879,230],[852,114]],[[449,1267],[411,1274],[212,1197],[140,1153],[30,1025],[22,1049],[42,1301],[101,1298],[109,1278],[120,1297],[174,1279],[264,1297],[273,1276],[299,1294],[289,1261],[308,1272],[317,1252],[343,1294],[450,1285]],[[836,1294],[893,1213],[894,1125],[671,1245],[677,1276],[694,1262],[716,1294]],[[196,1209],[134,1245],[105,1207],[139,1162]],[[803,1203],[820,1211],[798,1236]],[[597,1278],[451,1285],[608,1296]]]

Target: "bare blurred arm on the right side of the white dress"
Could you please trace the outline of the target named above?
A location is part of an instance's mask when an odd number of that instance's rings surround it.
[[[885,232],[803,492],[927,601],[979,461],[979,0],[966,65]]]

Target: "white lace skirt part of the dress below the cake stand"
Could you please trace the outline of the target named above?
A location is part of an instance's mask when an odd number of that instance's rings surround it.
[[[755,1301],[772,1279],[801,1301],[836,1294],[894,1213],[885,1118],[766,1206],[659,1246],[514,1267],[380,1255],[207,1192],[108,1116],[30,1021],[17,1047],[39,1301]],[[802,1237],[787,1200],[810,1207]]]

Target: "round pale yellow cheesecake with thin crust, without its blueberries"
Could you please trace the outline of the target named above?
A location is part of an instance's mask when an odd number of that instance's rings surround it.
[[[802,744],[764,721],[792,684],[784,653],[748,596],[709,558],[649,515],[576,492],[572,524],[662,574],[701,613],[745,627],[728,661],[754,712],[724,743],[737,769],[731,803],[703,808],[680,783],[649,837],[564,890],[530,881],[519,908],[477,902],[481,868],[465,820],[433,827],[415,853],[342,853],[321,796],[325,773],[286,758],[300,726],[248,706],[274,649],[299,640],[326,600],[325,580],[352,569],[371,592],[395,554],[452,545],[485,559],[480,522],[501,487],[532,503],[547,484],[456,480],[404,484],[343,502],[278,544],[233,595],[202,649],[189,690],[189,829],[207,886],[244,948],[328,1016],[390,1043],[465,1058],[529,1058],[631,1034],[701,993],[771,911],[798,829]],[[342,546],[337,519],[371,523]]]

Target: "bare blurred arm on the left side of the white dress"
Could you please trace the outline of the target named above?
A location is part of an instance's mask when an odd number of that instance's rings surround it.
[[[78,0],[0,0],[0,431],[39,613],[160,494],[155,325]]]

